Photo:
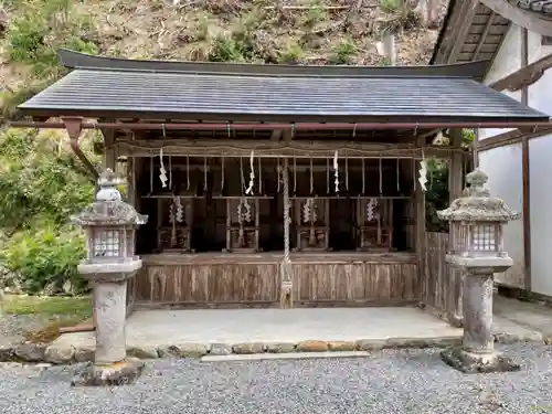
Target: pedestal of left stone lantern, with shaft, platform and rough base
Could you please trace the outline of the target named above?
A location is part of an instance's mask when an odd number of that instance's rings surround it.
[[[136,275],[141,261],[120,264],[83,264],[78,272],[93,284],[96,350],[73,385],[119,385],[134,382],[144,362],[127,358],[125,336],[127,280]]]

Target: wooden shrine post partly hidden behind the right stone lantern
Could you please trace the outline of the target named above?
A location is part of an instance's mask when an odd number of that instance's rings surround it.
[[[450,145],[454,148],[460,148],[463,142],[463,134],[461,129],[450,129]],[[459,198],[463,192],[464,187],[464,177],[463,177],[463,163],[464,163],[464,155],[461,152],[455,151],[450,157],[450,163],[448,168],[448,201]],[[448,245],[453,246],[454,244],[454,234],[448,233]],[[450,297],[447,302],[450,305],[449,309],[445,309],[448,312],[452,312],[450,319],[454,325],[461,325],[463,321],[463,273],[458,269],[449,268],[449,277],[454,280],[454,289],[453,297]],[[447,306],[448,307],[448,306]]]

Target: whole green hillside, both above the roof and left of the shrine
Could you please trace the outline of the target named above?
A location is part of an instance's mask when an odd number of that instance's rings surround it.
[[[426,64],[446,0],[433,21],[415,0],[404,1],[0,0],[0,121],[63,75],[61,46],[127,59],[386,65],[379,42],[394,33],[397,64]],[[95,134],[84,147],[99,162]],[[93,185],[66,139],[60,131],[0,131],[0,287],[84,286],[76,274],[84,243],[67,217],[89,202]]]

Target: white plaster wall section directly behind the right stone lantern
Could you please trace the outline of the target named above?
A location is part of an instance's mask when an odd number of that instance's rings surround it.
[[[551,141],[552,142],[552,141]],[[521,144],[479,152],[479,168],[489,176],[489,190],[514,210],[523,209],[523,181]],[[517,220],[505,226],[505,248],[513,258],[513,266],[506,273],[496,274],[497,282],[524,287],[523,277],[523,221]]]

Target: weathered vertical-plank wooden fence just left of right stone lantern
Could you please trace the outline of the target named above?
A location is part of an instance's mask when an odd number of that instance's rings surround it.
[[[422,265],[422,302],[436,309],[444,318],[454,321],[460,291],[460,272],[445,262],[448,233],[426,233],[426,250]]]

